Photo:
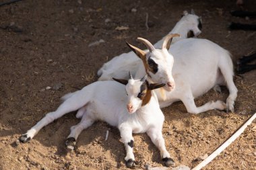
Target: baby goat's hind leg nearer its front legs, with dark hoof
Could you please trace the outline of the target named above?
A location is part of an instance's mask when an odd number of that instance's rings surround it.
[[[79,122],[79,124],[72,126],[70,128],[71,132],[70,132],[69,136],[67,136],[67,140],[65,142],[67,149],[69,149],[70,151],[74,150],[76,140],[77,140],[79,134],[82,132],[82,130],[91,126],[94,123],[94,121],[95,120],[90,118],[90,116],[88,116],[87,114],[84,114],[81,122]]]

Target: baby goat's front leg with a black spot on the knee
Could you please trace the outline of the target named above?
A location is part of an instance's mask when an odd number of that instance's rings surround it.
[[[133,155],[134,139],[133,139],[132,129],[129,128],[129,125],[126,124],[126,125],[119,126],[119,130],[120,130],[120,134],[121,134],[121,140],[125,144],[126,166],[129,168],[134,167],[135,166],[135,158]]]

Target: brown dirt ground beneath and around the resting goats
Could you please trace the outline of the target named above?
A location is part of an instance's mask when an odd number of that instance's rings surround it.
[[[256,9],[256,1],[245,2],[245,9]],[[27,0],[1,6],[0,169],[126,169],[119,131],[104,122],[84,130],[77,151],[67,153],[69,128],[79,122],[75,112],[55,120],[26,144],[16,140],[55,110],[62,95],[96,81],[96,71],[104,62],[129,52],[125,41],[144,48],[135,40],[140,36],[155,43],[172,30],[183,10],[192,8],[203,19],[200,38],[220,44],[232,53],[233,60],[256,50],[256,32],[228,30],[231,21],[256,24],[256,19],[230,15],[238,9],[234,0]],[[118,26],[129,29],[115,30]],[[100,39],[104,42],[89,46]],[[163,109],[166,148],[177,165],[195,167],[197,157],[210,155],[256,112],[256,71],[236,75],[234,81],[238,88],[234,114],[217,110],[188,114],[181,102]],[[196,104],[225,101],[227,96],[226,87],[222,93],[211,90],[196,99]],[[255,128],[254,121],[204,169],[256,169]],[[162,167],[150,138],[146,134],[134,138],[135,169],[145,169],[146,164]]]

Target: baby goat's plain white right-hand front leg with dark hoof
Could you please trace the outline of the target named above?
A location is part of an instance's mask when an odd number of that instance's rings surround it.
[[[152,142],[158,147],[160,155],[162,157],[162,161],[164,161],[164,165],[166,165],[166,167],[173,167],[175,163],[173,159],[170,158],[170,154],[168,153],[168,151],[166,151],[164,138],[162,137],[162,128],[150,128],[147,131],[147,134],[148,136],[150,136]]]

